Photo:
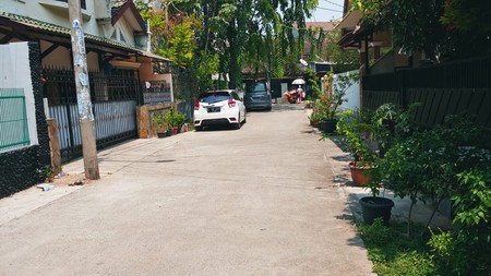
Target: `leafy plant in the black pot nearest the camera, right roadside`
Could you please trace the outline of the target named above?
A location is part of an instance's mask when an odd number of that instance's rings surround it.
[[[356,139],[361,136],[364,142],[373,141],[373,143],[369,143],[371,144],[371,147],[363,149],[363,147],[360,146],[358,149],[358,152],[361,153],[360,156],[362,156],[362,158],[369,157],[371,167],[370,172],[366,172],[366,175],[368,173],[366,185],[371,190],[372,196],[360,199],[363,220],[368,224],[372,224],[375,218],[381,217],[383,223],[388,225],[394,201],[379,196],[382,187],[384,187],[384,189],[391,189],[393,188],[392,184],[397,181],[400,181],[398,183],[404,182],[405,185],[402,185],[400,188],[405,188],[403,190],[396,190],[394,193],[399,196],[409,194],[412,202],[410,211],[416,202],[418,191],[420,191],[418,187],[419,182],[416,178],[421,175],[416,173],[412,176],[415,178],[411,178],[410,176],[400,177],[400,175],[398,175],[400,178],[396,181],[391,177],[395,177],[397,173],[391,175],[391,172],[394,172],[397,169],[408,169],[407,171],[409,171],[412,169],[411,166],[420,165],[419,163],[422,160],[418,160],[419,157],[423,159],[422,155],[416,152],[414,154],[408,153],[409,155],[406,157],[409,159],[398,159],[396,155],[393,154],[397,149],[408,152],[418,151],[418,148],[410,145],[411,142],[407,139],[412,130],[410,118],[417,106],[418,104],[414,104],[407,110],[403,110],[394,104],[384,104],[373,112],[368,112],[368,116],[359,116],[360,119],[356,123],[358,134],[364,134],[359,136],[354,135],[355,137],[352,137],[352,140],[357,142]],[[348,136],[349,134],[350,133],[348,133]],[[361,142],[355,144],[358,145]],[[378,153],[376,155],[371,154],[373,153],[373,149]],[[388,158],[385,158],[386,156],[384,156],[386,151],[390,151]],[[415,159],[410,160],[410,158]],[[404,167],[406,161],[408,163],[408,167]],[[355,165],[351,165],[351,167],[356,169],[359,168],[360,165],[363,166],[363,163],[356,163]],[[400,166],[400,168],[396,168],[398,166]]]

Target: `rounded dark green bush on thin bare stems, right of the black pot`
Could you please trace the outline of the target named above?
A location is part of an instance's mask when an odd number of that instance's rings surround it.
[[[434,214],[442,200],[451,197],[458,173],[482,161],[489,163],[489,151],[482,149],[482,136],[483,131],[470,120],[452,118],[433,129],[416,131],[387,149],[379,172],[396,196],[411,200],[408,236],[412,208],[418,201],[435,200]]]

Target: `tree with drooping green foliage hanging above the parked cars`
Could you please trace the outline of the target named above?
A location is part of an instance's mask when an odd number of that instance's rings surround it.
[[[230,86],[237,87],[244,67],[267,76],[288,73],[292,61],[297,68],[306,17],[319,0],[151,0],[159,9],[135,3],[149,21],[153,48],[172,59],[181,74],[197,73],[192,83],[201,91],[218,72],[228,73]]]

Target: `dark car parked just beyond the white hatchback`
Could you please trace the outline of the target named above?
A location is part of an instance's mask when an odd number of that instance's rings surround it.
[[[265,81],[246,83],[243,104],[248,110],[271,110],[271,89]]]

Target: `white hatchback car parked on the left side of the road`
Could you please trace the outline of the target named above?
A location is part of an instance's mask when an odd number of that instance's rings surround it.
[[[246,123],[246,106],[235,89],[201,93],[194,104],[194,128],[231,124],[240,129]]]

